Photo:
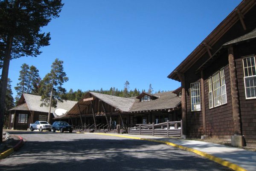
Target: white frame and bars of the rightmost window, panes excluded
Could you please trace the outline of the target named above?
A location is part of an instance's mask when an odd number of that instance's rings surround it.
[[[247,62],[247,59],[248,59],[248,58],[253,58],[253,60],[254,60],[254,66],[252,66],[252,64],[251,64],[251,66],[248,67],[248,62]],[[244,59],[246,59],[247,67],[244,67]],[[252,82],[252,83],[253,83],[253,86],[246,87],[246,78],[253,78],[253,77],[256,77],[255,56],[254,56],[254,55],[250,55],[250,56],[244,57],[244,58],[242,58],[242,61],[243,61],[243,70],[244,70],[244,93],[245,93],[245,98],[246,98],[246,99],[254,99],[254,98],[256,98],[256,92],[255,92],[255,87],[256,87],[256,85],[254,85],[254,83]],[[250,63],[251,63],[251,61],[250,61]],[[255,73],[253,73],[253,67],[254,67]],[[245,76],[245,68],[247,68],[248,76]],[[251,76],[249,76],[249,71],[248,71],[249,68],[250,68],[251,73],[252,73]],[[254,75],[253,75],[253,74],[254,74]],[[249,81],[249,84],[250,84],[250,81]],[[247,97],[246,88],[253,88],[253,90],[254,90],[254,97]]]

